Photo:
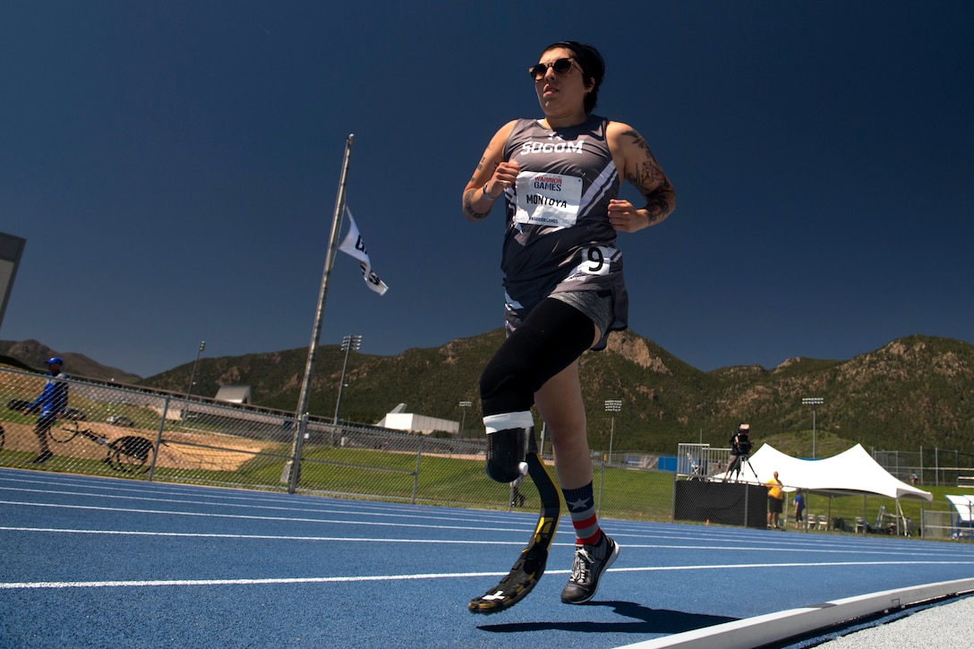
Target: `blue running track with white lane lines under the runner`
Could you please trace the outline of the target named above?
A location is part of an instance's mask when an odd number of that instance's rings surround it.
[[[563,518],[535,592],[494,616],[532,513],[0,470],[2,647],[618,647],[974,577],[974,546],[604,519],[622,546],[562,604]]]

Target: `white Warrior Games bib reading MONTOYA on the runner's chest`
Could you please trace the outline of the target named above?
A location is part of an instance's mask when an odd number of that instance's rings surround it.
[[[517,174],[518,223],[569,228],[579,218],[581,178],[561,173]]]

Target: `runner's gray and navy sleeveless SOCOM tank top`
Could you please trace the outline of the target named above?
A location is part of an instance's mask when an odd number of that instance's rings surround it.
[[[522,119],[507,138],[504,159],[521,171],[505,192],[501,265],[509,303],[524,315],[554,293],[597,290],[612,296],[609,330],[626,327],[622,254],[608,213],[620,178],[607,124],[589,115],[582,124],[551,130]]]

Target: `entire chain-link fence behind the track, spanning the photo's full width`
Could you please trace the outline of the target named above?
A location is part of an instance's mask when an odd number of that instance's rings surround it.
[[[329,417],[296,419],[292,412],[73,378],[65,379],[69,400],[64,416],[45,436],[54,455],[36,463],[42,450],[35,434],[40,413],[25,410],[46,380],[0,368],[0,466],[425,505],[495,510],[539,505],[531,480],[515,487],[485,476],[484,439],[336,425]],[[540,438],[557,479],[543,432]],[[923,451],[922,461],[919,453],[894,453],[877,456],[890,473],[931,476],[924,466],[931,452]],[[659,471],[656,455],[595,450],[597,511],[637,520],[763,526],[765,490],[723,484],[729,454],[729,448],[680,444],[674,473]],[[937,451],[933,457],[951,458],[953,469],[941,465],[936,475],[959,481],[966,475],[961,455]],[[296,475],[293,466],[300,467]],[[904,505],[916,511],[900,515],[887,513],[892,504],[879,497],[806,494],[805,520],[796,525],[793,498],[794,493],[786,494],[782,522],[803,531],[922,531],[934,539],[971,540],[969,520],[966,528],[962,520],[958,523],[949,503]]]

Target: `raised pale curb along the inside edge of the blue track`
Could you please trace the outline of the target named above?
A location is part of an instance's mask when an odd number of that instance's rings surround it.
[[[883,613],[918,604],[922,601],[966,592],[974,592],[974,579],[957,579],[894,591],[872,592],[803,608],[768,613],[768,615],[760,615],[756,618],[735,620],[705,629],[674,633],[645,642],[628,644],[624,647],[618,647],[618,649],[657,649],[659,647],[750,649],[751,647],[780,642],[789,637],[850,622],[867,615]]]

